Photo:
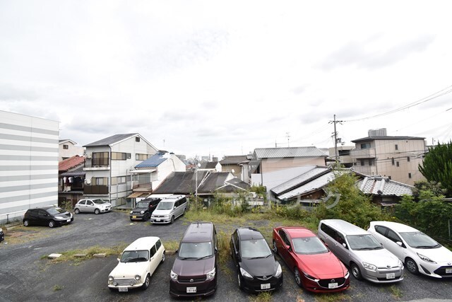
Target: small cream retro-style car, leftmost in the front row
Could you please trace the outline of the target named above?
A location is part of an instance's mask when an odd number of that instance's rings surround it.
[[[121,253],[118,260],[117,267],[108,276],[109,289],[147,289],[155,269],[165,261],[165,247],[158,237],[138,238]]]

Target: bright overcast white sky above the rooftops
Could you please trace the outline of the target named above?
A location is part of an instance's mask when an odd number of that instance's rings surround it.
[[[451,11],[451,1],[0,0],[0,110],[57,120],[60,139],[79,146],[138,132],[187,157],[333,147],[334,115],[346,145],[379,128],[448,142]]]

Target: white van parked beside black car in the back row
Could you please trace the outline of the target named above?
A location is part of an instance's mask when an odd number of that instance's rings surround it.
[[[159,202],[150,221],[152,223],[173,223],[174,219],[185,214],[187,199],[184,195],[171,196]]]

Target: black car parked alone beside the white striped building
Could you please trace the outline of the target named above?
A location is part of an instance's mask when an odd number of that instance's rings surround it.
[[[24,226],[62,226],[73,221],[73,215],[59,207],[28,209],[23,216]]]

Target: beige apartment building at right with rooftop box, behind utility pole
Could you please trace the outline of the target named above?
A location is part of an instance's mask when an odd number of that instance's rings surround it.
[[[350,152],[353,170],[364,175],[381,175],[408,185],[425,180],[418,168],[427,151],[425,138],[389,137],[386,129],[380,130],[369,130],[369,137],[352,141],[355,143],[355,149]]]

